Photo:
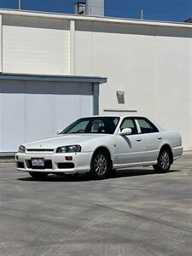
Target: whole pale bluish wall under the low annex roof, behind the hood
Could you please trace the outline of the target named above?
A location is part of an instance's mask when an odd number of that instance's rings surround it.
[[[0,153],[92,115],[93,83],[0,80]]]

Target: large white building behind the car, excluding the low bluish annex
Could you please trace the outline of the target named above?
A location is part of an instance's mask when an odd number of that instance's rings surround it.
[[[190,24],[2,10],[0,72],[107,77],[100,113],[144,114],[192,150]]]

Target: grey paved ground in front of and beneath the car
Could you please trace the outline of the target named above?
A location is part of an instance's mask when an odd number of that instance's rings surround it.
[[[0,164],[0,255],[192,255],[192,155],[102,181]]]

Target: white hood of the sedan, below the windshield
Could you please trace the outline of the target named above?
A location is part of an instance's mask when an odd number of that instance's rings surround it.
[[[38,140],[32,143],[26,143],[24,146],[27,149],[55,149],[61,146],[77,145],[87,141],[95,140],[96,138],[110,136],[109,134],[66,134],[49,137]]]

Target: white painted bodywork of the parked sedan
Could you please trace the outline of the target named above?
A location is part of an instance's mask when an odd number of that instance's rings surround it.
[[[93,117],[91,117],[93,118]],[[97,118],[104,118],[99,117]],[[26,143],[25,153],[17,153],[15,161],[17,170],[24,172],[64,172],[67,174],[90,172],[90,163],[97,148],[107,148],[113,163],[113,169],[120,169],[132,166],[156,165],[160,149],[163,146],[170,147],[172,160],[181,157],[183,153],[182,138],[176,131],[165,131],[156,125],[157,132],[141,133],[137,119],[143,117],[119,117],[119,123],[113,134],[101,133],[76,133],[64,134],[55,137],[45,138],[32,143]],[[122,136],[119,134],[120,126],[124,119],[136,119],[137,134]],[[154,123],[152,123],[154,124]],[[80,145],[81,152],[56,153],[56,149],[67,145]],[[40,150],[40,151],[39,151]],[[49,151],[52,150],[52,151]],[[71,156],[73,160],[66,160]],[[34,169],[27,165],[28,160],[41,158],[51,160],[51,168]],[[23,163],[20,167],[18,163]],[[73,163],[73,168],[59,168],[58,163]]]

